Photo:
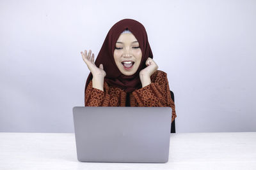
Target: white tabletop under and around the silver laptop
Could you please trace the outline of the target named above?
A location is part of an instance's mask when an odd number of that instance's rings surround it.
[[[179,133],[166,164],[78,162],[74,134],[0,133],[0,169],[256,169],[256,132]]]

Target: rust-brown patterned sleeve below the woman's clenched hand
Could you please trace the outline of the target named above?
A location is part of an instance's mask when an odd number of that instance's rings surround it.
[[[141,107],[171,107],[173,121],[177,115],[170,94],[167,74],[163,71],[157,71],[151,79],[152,83],[134,90],[132,94]]]

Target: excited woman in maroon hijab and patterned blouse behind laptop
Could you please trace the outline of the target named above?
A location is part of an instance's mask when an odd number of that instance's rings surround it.
[[[95,62],[91,50],[81,55],[91,71],[84,106],[167,106],[172,108],[172,122],[177,117],[167,74],[157,70],[140,22],[124,19],[113,25]]]

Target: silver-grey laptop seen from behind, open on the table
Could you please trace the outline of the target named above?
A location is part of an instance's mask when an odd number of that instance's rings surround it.
[[[80,162],[168,162],[172,108],[74,107]]]

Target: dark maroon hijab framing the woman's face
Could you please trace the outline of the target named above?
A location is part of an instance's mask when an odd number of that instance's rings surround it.
[[[131,76],[125,76],[122,74],[116,66],[114,59],[116,41],[125,29],[129,29],[129,31],[131,31],[138,40],[142,52],[140,66],[138,67],[136,73],[132,74]],[[148,43],[145,27],[136,20],[123,19],[116,22],[116,24],[113,25],[109,30],[100,49],[99,55],[95,60],[95,65],[99,67],[100,64],[103,64],[104,71],[106,71],[104,80],[108,83],[108,85],[124,89],[125,92],[132,92],[135,89],[141,88],[140,71],[141,69],[147,67],[145,62],[148,57],[153,59],[153,53]],[[90,73],[87,78],[85,90],[90,80],[92,80],[92,73]]]

